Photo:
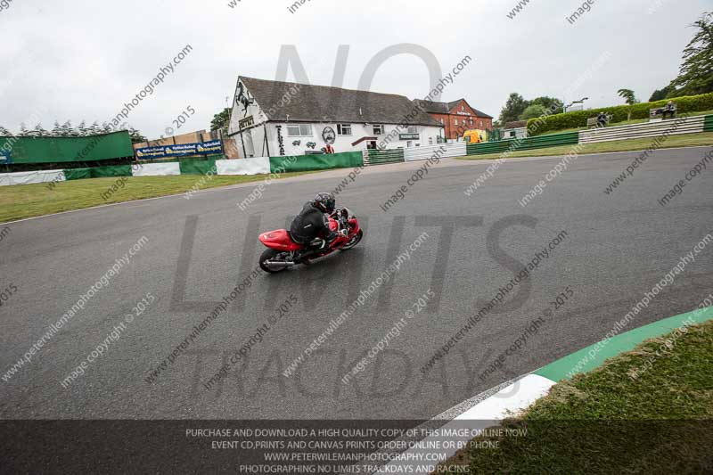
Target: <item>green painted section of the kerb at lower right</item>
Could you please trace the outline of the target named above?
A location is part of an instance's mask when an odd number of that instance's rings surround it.
[[[570,356],[565,356],[554,363],[547,364],[533,372],[533,374],[543,376],[552,381],[562,381],[568,378],[569,373],[574,371],[578,364],[579,367],[572,375],[586,373],[601,366],[605,360],[636,348],[643,340],[650,340],[668,332],[673,332],[676,328],[682,326],[684,320],[688,320],[689,317],[695,323],[711,320],[713,319],[713,307],[672,316],[665,320],[636,328],[630,332],[621,333],[609,340],[606,345],[600,345],[601,342],[595,343],[591,347],[580,349],[577,353],[572,353]],[[598,351],[595,349],[597,345],[601,347]]]

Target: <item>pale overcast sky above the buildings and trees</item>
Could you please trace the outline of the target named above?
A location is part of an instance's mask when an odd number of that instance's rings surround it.
[[[281,45],[296,45],[310,82],[326,86],[338,46],[349,45],[348,88],[391,45],[422,45],[444,73],[470,55],[442,99],[464,97],[494,117],[512,92],[588,96],[598,107],[621,103],[616,91],[627,87],[647,100],[676,76],[688,26],[713,10],[710,0],[595,0],[570,24],[579,0],[530,0],[512,20],[518,0],[310,0],[295,13],[294,0],[230,1],[9,1],[0,11],[0,125],[16,132],[37,110],[47,129],[54,119],[109,120],[185,45],[193,52],[127,119],[149,138],[188,105],[196,114],[181,132],[208,128],[238,75],[275,79]],[[602,68],[583,77],[606,52]],[[429,89],[423,61],[406,54],[384,63],[372,86],[412,99]]]

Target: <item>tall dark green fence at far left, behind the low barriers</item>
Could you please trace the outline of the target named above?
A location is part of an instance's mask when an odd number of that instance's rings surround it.
[[[133,157],[127,131],[88,137],[0,137],[0,150],[12,150],[10,163],[61,163]]]

